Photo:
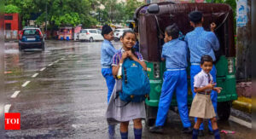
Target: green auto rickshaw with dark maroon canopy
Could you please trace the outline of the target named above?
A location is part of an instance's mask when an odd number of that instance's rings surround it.
[[[205,30],[210,31],[210,24],[215,22],[215,33],[220,43],[220,49],[215,52],[217,61],[217,86],[223,90],[218,94],[218,119],[230,117],[231,102],[237,99],[235,71],[235,40],[233,11],[227,4],[222,3],[152,3],[138,8],[134,20],[138,27],[140,38],[140,53],[147,63],[150,80],[150,94],[146,100],[147,125],[154,125],[160,99],[165,62],[160,61],[161,49],[164,44],[166,26],[176,23],[183,36],[194,30],[189,24],[188,14],[200,10],[203,13]],[[188,105],[192,103],[190,89],[190,73],[188,73]],[[172,97],[171,109],[177,106],[176,96]]]

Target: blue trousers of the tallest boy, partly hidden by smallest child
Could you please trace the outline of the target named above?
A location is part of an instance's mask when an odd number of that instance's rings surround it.
[[[191,83],[191,90],[192,90],[192,94],[193,94],[193,98],[195,97],[195,91],[194,91],[194,77],[197,73],[201,72],[201,67],[200,67],[200,64],[199,63],[196,63],[196,64],[191,64],[191,67],[190,67],[190,83]],[[217,74],[217,71],[216,71],[216,68],[215,66],[213,65],[212,67],[212,71],[210,72],[211,75],[212,75],[212,78],[213,78],[213,82],[216,83],[216,74]],[[211,93],[211,100],[212,100],[212,105],[214,107],[214,111],[215,113],[217,113],[217,103],[218,103],[218,93],[214,90],[212,90],[212,93]],[[195,122],[196,122],[196,118],[195,118]],[[208,120],[208,128],[209,130],[212,130],[212,123],[211,123],[211,120],[209,119]],[[204,125],[203,123],[200,125],[200,128],[199,130],[204,130]]]

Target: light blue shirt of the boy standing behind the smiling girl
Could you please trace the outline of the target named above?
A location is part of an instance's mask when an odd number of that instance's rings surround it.
[[[111,67],[112,57],[116,52],[117,50],[113,48],[112,43],[104,39],[104,41],[102,42],[102,57],[101,57],[102,68]]]

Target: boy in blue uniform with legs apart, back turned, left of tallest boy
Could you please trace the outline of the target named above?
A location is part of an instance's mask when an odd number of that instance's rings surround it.
[[[173,92],[176,92],[177,107],[183,123],[183,133],[191,133],[192,128],[189,121],[187,106],[187,44],[178,39],[179,29],[176,25],[166,27],[165,44],[162,49],[162,61],[166,60],[166,72],[161,90],[159,108],[155,125],[149,129],[150,132],[162,133],[163,125],[172,101]]]

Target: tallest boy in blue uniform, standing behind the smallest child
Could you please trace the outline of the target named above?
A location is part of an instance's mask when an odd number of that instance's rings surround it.
[[[211,31],[206,32],[202,27],[203,17],[200,11],[192,11],[189,13],[190,25],[195,28],[194,31],[188,32],[185,41],[188,43],[189,51],[190,51],[190,83],[191,90],[193,93],[193,98],[195,97],[194,91],[194,77],[197,73],[201,72],[200,61],[202,55],[210,55],[213,61],[216,61],[214,50],[219,49],[218,38],[214,34],[215,23],[211,24]],[[216,68],[212,67],[212,71],[210,72],[213,78],[213,82],[216,83]],[[217,92],[212,90],[211,100],[212,105],[214,107],[215,113],[217,112]],[[195,119],[196,121],[196,119]],[[212,125],[209,120],[209,133],[212,134]],[[200,126],[199,136],[203,136],[203,124]]]

